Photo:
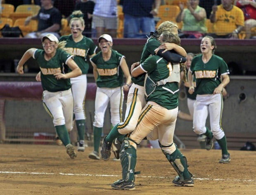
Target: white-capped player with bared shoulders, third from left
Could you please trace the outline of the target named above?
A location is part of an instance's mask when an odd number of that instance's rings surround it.
[[[96,160],[100,159],[99,146],[107,105],[110,102],[111,124],[114,126],[122,120],[123,90],[128,91],[131,83],[125,56],[111,49],[113,46],[111,36],[103,34],[98,42],[101,51],[90,59],[97,92],[93,122],[94,151],[89,157]],[[126,77],[125,83],[123,83],[123,75]]]

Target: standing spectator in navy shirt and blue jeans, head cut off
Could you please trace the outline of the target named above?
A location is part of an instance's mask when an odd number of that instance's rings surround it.
[[[147,38],[155,31],[154,16],[161,0],[123,0],[124,38]],[[154,7],[154,9],[152,9]]]

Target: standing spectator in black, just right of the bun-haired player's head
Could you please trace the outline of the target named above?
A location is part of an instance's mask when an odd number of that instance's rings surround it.
[[[92,13],[94,10],[95,2],[91,0],[78,0],[74,10],[81,10],[83,12],[83,20],[85,21],[85,28],[83,35],[92,37]],[[70,20],[70,16],[67,18]]]

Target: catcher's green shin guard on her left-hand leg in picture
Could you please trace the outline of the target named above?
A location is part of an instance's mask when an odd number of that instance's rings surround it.
[[[124,181],[135,181],[136,149],[130,145],[130,139],[124,139],[121,145],[120,160],[122,164],[122,176]]]

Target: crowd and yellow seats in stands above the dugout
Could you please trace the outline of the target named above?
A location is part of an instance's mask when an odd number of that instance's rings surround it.
[[[146,34],[149,34],[147,31],[152,31],[152,28],[145,26],[150,26],[149,23],[153,21],[153,28],[156,29],[166,20],[178,24],[180,38],[202,38],[208,33],[215,34],[216,38],[218,35],[224,35],[220,38],[239,39],[256,36],[255,0],[109,0],[109,5],[103,0],[0,0],[0,29],[9,24],[19,26],[24,36],[37,32],[40,21],[38,17],[26,25],[24,21],[38,14],[45,1],[52,2],[62,16],[62,20],[58,22],[59,28],[54,29],[60,36],[70,33],[70,15],[76,9],[81,9],[84,13],[84,35],[91,38],[104,32],[117,38],[146,38]],[[225,8],[229,3],[231,6]],[[221,10],[230,14],[229,17],[225,18],[225,13]],[[233,18],[232,12],[236,12],[237,18]],[[211,17],[213,14],[216,17]],[[147,25],[143,25],[145,21]],[[220,21],[224,21],[222,25],[225,27],[232,23],[232,27],[220,30]]]

